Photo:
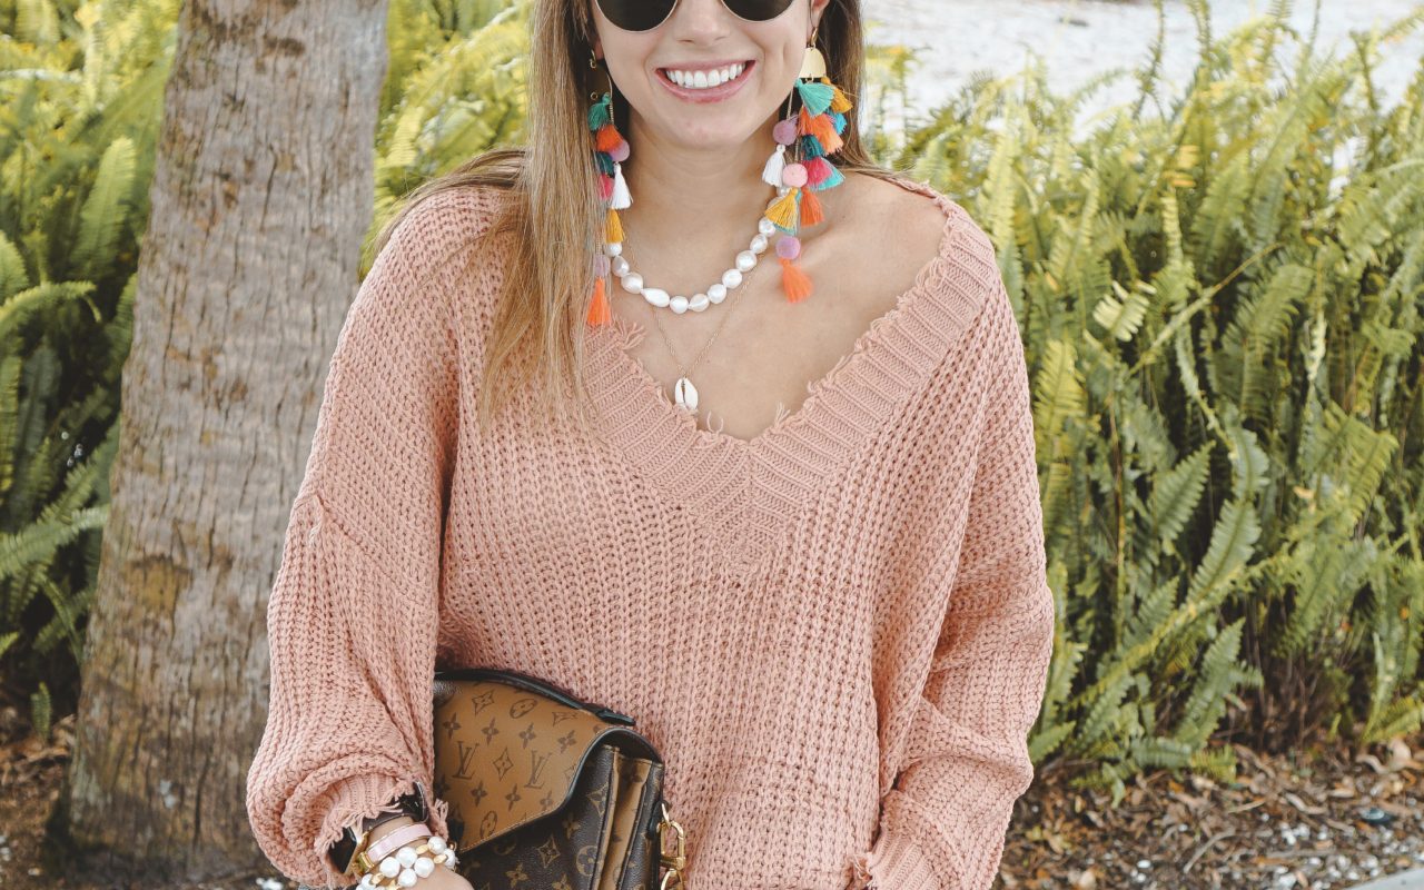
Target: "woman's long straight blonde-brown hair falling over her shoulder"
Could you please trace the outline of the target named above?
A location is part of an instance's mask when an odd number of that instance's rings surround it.
[[[799,0],[797,0],[799,1]],[[592,290],[591,259],[604,231],[604,208],[588,132],[590,95],[605,88],[588,60],[594,43],[592,0],[534,0],[528,68],[528,120],[524,148],[498,148],[429,179],[404,198],[382,226],[376,252],[420,201],[444,189],[510,189],[503,212],[484,236],[513,234],[513,251],[493,330],[484,349],[477,396],[481,429],[513,387],[528,386],[541,372],[538,404],[558,417],[585,423],[585,383],[580,372],[581,333]],[[830,0],[816,33],[827,74],[852,101],[860,93],[864,31],[860,0]],[[887,177],[860,142],[856,111],[844,145],[830,157],[842,171]],[[614,93],[615,120],[627,121],[627,101]],[[474,251],[477,245],[470,245]],[[568,399],[568,396],[572,396]],[[575,410],[568,413],[570,402]]]

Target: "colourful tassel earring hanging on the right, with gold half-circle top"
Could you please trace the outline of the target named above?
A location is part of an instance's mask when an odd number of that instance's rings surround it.
[[[762,169],[762,179],[776,185],[778,197],[766,208],[776,231],[776,258],[782,263],[782,292],[796,303],[813,292],[810,276],[796,265],[800,259],[800,229],[803,225],[824,222],[824,211],[816,192],[834,188],[846,181],[844,174],[830,162],[829,155],[844,145],[842,134],[850,122],[850,98],[826,75],[826,57],[816,47],[816,33],[802,60],[796,87],[786,98],[786,117],[772,128],[776,151]],[[800,110],[792,112],[795,100]],[[793,158],[787,161],[786,155]]]

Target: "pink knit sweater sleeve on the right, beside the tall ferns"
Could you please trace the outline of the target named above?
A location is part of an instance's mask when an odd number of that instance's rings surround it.
[[[1015,799],[1054,639],[1030,407],[1012,305],[997,283],[983,439],[958,568],[904,758],[862,876],[881,890],[987,890]]]

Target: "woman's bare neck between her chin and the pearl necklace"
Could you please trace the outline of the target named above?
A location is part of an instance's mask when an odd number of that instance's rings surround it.
[[[776,148],[770,125],[732,150],[695,148],[661,140],[634,117],[628,141],[635,148],[624,177],[634,204],[619,212],[638,241],[659,232],[738,241],[756,231],[759,214],[776,197],[762,182],[762,167]]]

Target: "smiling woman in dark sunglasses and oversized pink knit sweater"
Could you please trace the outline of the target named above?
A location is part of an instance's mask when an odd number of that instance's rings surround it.
[[[637,718],[691,890],[990,886],[1054,635],[1028,377],[988,238],[860,148],[862,53],[856,0],[537,0],[528,148],[417,189],[332,357],[248,775],[283,873],[497,803],[424,799],[431,672],[487,665]]]

